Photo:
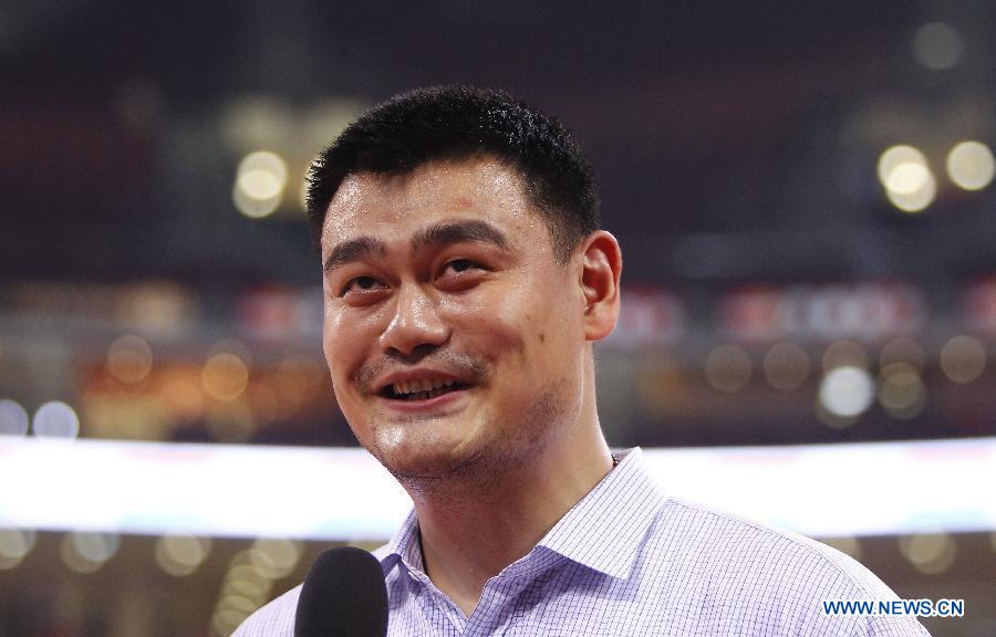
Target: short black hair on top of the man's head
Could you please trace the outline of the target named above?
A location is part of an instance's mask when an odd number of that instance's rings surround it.
[[[366,111],[308,171],[308,218],[319,243],[349,175],[404,175],[434,160],[495,157],[518,174],[564,263],[599,229],[598,187],[570,132],[504,91],[448,85],[395,95]]]

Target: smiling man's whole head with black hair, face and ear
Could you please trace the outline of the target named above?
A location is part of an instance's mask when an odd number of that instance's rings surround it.
[[[583,460],[621,257],[563,128],[502,94],[411,93],[350,127],[310,194],[325,358],[364,447],[409,485]]]

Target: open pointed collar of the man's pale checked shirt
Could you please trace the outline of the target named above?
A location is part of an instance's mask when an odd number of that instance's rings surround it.
[[[619,466],[574,504],[537,546],[606,575],[625,577],[666,498],[639,447],[618,452],[616,457]],[[397,561],[409,571],[424,572],[414,509],[374,555],[385,574]]]

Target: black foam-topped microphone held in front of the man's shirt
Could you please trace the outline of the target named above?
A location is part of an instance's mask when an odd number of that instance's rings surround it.
[[[318,556],[298,598],[294,637],[385,637],[387,585],[377,558],[355,546]]]

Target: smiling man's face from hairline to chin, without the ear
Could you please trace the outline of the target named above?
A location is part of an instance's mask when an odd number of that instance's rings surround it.
[[[335,396],[396,476],[500,471],[578,420],[580,265],[558,263],[509,168],[347,177],[321,244]]]

